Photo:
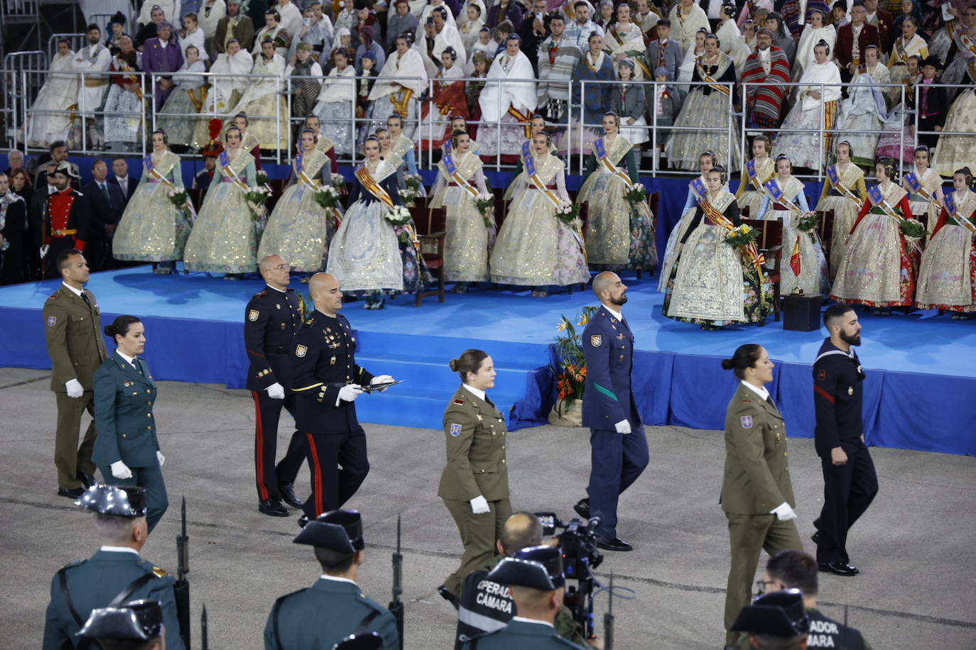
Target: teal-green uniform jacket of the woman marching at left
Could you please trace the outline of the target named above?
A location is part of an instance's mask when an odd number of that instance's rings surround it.
[[[154,467],[159,440],[152,404],[156,382],[142,360],[142,374],[118,352],[95,373],[95,439],[92,458],[102,467],[122,461],[128,467]]]

